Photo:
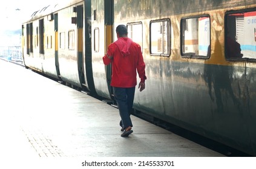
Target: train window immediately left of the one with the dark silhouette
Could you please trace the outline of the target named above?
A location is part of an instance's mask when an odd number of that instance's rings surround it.
[[[210,18],[199,16],[181,21],[182,56],[208,58],[210,46]]]

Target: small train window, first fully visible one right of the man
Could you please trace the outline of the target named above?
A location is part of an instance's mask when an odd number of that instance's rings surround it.
[[[169,19],[150,22],[150,54],[170,56],[171,22]]]

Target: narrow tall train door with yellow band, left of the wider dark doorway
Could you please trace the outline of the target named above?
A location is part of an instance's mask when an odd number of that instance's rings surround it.
[[[61,80],[61,72],[59,72],[59,53],[58,53],[58,24],[57,24],[57,13],[54,14],[54,31],[55,31],[55,66],[57,77]]]

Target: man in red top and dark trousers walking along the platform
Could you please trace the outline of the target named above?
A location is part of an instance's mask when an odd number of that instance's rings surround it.
[[[140,92],[145,89],[145,63],[139,44],[127,37],[128,31],[125,25],[116,28],[117,40],[108,46],[108,51],[103,56],[103,63],[112,63],[111,86],[117,101],[121,117],[123,137],[133,133],[130,114],[133,108],[135,87],[137,84],[137,72],[140,77]],[[137,72],[136,72],[137,71]]]

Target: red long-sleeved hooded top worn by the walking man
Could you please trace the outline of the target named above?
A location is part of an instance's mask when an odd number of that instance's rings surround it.
[[[113,56],[108,59],[108,56]],[[108,46],[108,51],[103,56],[103,63],[112,63],[111,86],[119,88],[133,88],[137,84],[137,72],[141,82],[145,82],[145,63],[140,45],[128,37],[119,37],[116,42]],[[136,72],[137,70],[137,72]]]

